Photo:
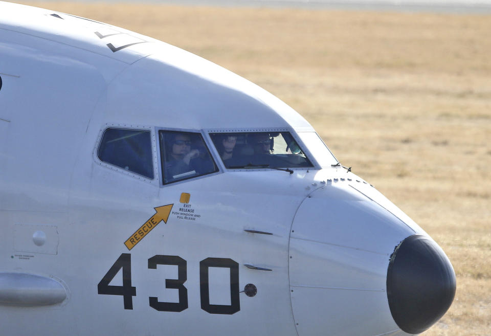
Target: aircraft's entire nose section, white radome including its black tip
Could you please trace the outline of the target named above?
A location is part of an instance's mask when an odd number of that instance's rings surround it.
[[[440,247],[358,180],[339,178],[304,199],[288,252],[300,336],[418,334],[455,295],[455,273]]]

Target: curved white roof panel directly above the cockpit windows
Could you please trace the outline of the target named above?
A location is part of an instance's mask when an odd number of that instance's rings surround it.
[[[310,126],[262,88],[192,56],[192,69],[156,55],[131,65],[108,87],[104,121],[187,129]]]

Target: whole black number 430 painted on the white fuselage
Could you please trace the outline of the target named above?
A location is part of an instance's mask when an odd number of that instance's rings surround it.
[[[178,256],[156,255],[148,259],[148,268],[157,269],[157,265],[176,265],[178,279],[166,279],[165,287],[179,290],[179,302],[161,302],[157,297],[149,297],[149,305],[159,311],[183,311],[188,308],[188,289],[184,286],[187,280],[187,262]],[[230,268],[230,305],[210,304],[208,283],[209,267]],[[123,285],[109,285],[119,270],[123,269]],[[229,258],[206,258],[199,262],[199,282],[201,308],[211,314],[232,315],[240,310],[239,300],[239,264]],[[106,275],[97,285],[98,294],[120,295],[123,297],[124,309],[133,309],[133,296],[137,288],[131,286],[131,254],[122,253],[109,268]]]

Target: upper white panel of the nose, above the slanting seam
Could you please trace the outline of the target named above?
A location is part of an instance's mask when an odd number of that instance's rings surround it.
[[[351,177],[346,178],[358,178]],[[295,216],[291,237],[387,255],[388,262],[396,244],[414,231],[348,183],[326,184],[305,199]]]

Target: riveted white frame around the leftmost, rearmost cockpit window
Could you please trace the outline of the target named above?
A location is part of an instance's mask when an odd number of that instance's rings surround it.
[[[141,130],[141,131],[148,131],[150,132],[150,146],[151,146],[151,153],[152,153],[152,168],[153,168],[153,178],[140,175],[136,172],[130,171],[123,169],[121,167],[115,166],[113,164],[107,163],[99,159],[99,148],[102,145],[102,138],[104,137],[104,133],[108,129],[123,129],[123,130]],[[107,123],[105,124],[100,130],[99,130],[99,135],[97,137],[97,142],[93,150],[93,158],[94,161],[102,167],[108,168],[110,170],[117,171],[119,173],[123,173],[127,176],[131,176],[133,178],[136,178],[137,180],[144,181],[150,184],[156,184],[160,183],[159,182],[159,174],[157,171],[157,155],[155,151],[155,133],[153,131],[153,128],[151,126],[140,126],[140,125],[126,125],[126,124],[116,124],[116,123]]]

